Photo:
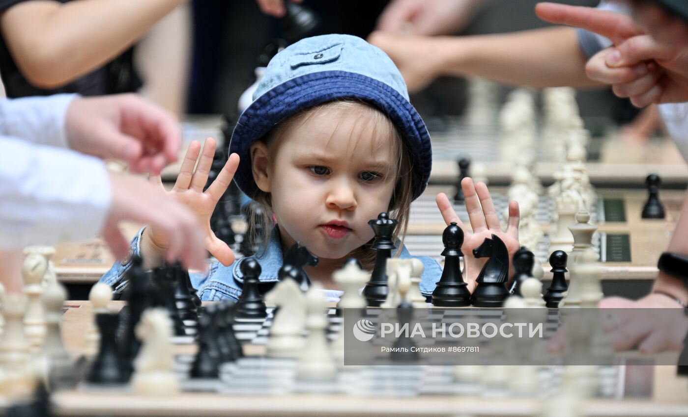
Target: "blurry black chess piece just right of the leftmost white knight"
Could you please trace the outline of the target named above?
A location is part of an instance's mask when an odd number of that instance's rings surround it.
[[[217,346],[217,306],[208,305],[198,317],[198,351],[191,365],[191,378],[217,379],[219,377],[219,348]]]

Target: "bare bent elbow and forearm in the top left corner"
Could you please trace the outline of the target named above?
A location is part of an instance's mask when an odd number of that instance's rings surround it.
[[[107,63],[186,1],[27,1],[0,16],[0,30],[23,75],[53,88]]]

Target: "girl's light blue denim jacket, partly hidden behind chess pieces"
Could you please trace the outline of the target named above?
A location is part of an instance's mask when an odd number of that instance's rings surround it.
[[[143,228],[140,229],[136,237],[131,240],[131,250],[133,253],[140,253],[139,243],[143,230]],[[423,262],[424,271],[421,276],[420,292],[429,297],[442,275],[440,264],[429,256],[411,256],[406,247],[402,247],[399,258],[418,258]],[[265,283],[277,282],[277,272],[283,263],[283,254],[277,228],[275,228],[275,232],[272,232],[265,251],[261,251],[259,256],[256,256],[256,259],[261,266],[259,280]],[[197,289],[201,300],[217,301],[223,298],[238,300],[241,295],[241,289],[244,287],[244,277],[241,275],[241,263],[244,260],[246,258],[237,259],[228,267],[216,261],[204,273],[191,273],[191,284]],[[114,289],[116,295],[121,294],[127,284],[125,275],[130,266],[131,262],[125,262],[124,264],[115,262],[110,270],[100,278],[100,282],[109,284]]]

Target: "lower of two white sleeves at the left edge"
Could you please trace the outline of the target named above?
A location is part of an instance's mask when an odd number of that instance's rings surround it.
[[[100,159],[0,136],[0,248],[92,238],[110,203]]]

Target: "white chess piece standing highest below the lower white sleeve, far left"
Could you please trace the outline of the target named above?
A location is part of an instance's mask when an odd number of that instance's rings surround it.
[[[24,334],[34,349],[38,349],[45,338],[45,313],[41,304],[41,293],[46,269],[47,261],[38,253],[29,253],[21,266],[23,293],[27,299]]]

